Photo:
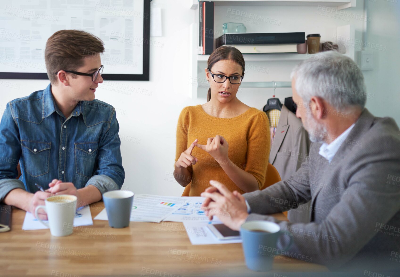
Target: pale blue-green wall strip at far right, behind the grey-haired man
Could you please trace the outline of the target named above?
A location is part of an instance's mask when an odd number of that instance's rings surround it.
[[[390,2],[395,1],[396,3]],[[374,53],[374,70],[364,71],[367,90],[375,94],[366,107],[378,117],[393,117],[400,125],[400,1],[368,1],[371,22],[367,44],[380,44],[386,51]],[[400,134],[399,134],[400,135]]]

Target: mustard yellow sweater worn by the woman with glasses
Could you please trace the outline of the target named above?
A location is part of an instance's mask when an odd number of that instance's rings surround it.
[[[250,108],[236,117],[218,118],[208,115],[201,105],[185,107],[178,119],[175,162],[196,138],[198,143],[207,144],[207,138],[216,135],[228,141],[229,159],[253,174],[258,181],[258,187],[261,188],[270,154],[270,131],[266,114],[256,108]],[[192,172],[190,196],[200,196],[200,193],[210,186],[210,180],[222,182],[230,191],[244,193],[206,151],[194,147],[192,155],[198,158],[198,162],[188,168]]]

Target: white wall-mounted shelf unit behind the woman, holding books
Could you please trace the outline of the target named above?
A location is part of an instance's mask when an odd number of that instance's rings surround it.
[[[192,4],[192,9],[197,9],[198,1],[197,0],[189,0]],[[294,0],[294,1],[270,1],[270,0],[213,0],[215,5],[247,5],[247,6],[263,6],[263,5],[278,5],[278,6],[299,6],[299,5],[307,5],[307,6],[337,6],[338,9],[355,7],[356,0],[346,0],[346,1],[303,1],[303,0]],[[198,55],[198,24],[193,23],[189,28],[189,79],[188,82],[188,96],[192,99],[198,98],[199,89],[204,90],[204,84],[194,82],[193,80],[204,79],[204,77],[198,77],[198,67],[201,68],[206,67],[206,63],[208,57],[210,55]],[[336,27],[336,38],[346,38],[346,41],[336,40],[334,43],[342,44],[342,47],[346,49],[346,55],[354,59],[355,51],[354,47],[352,47],[351,43],[348,43],[348,40],[354,40],[355,31],[354,26],[349,24],[345,26]],[[277,61],[292,61],[293,65],[296,63],[311,57],[311,54],[297,54],[297,53],[271,53],[271,54],[244,54],[244,60],[247,62],[277,62]],[[290,80],[280,80],[277,83],[277,87],[290,87]],[[265,87],[274,87],[271,81],[268,82],[243,82],[243,88],[265,88]]]

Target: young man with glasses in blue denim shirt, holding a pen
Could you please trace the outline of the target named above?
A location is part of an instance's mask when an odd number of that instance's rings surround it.
[[[34,214],[52,194],[76,195],[84,206],[122,187],[115,109],[94,99],[103,51],[103,42],[84,31],[61,30],[48,39],[50,84],[9,102],[0,123],[0,202]]]

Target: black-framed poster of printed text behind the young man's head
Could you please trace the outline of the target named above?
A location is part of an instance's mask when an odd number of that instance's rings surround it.
[[[47,39],[76,29],[104,42],[105,80],[149,80],[150,0],[5,0],[0,10],[0,79],[48,79]]]

